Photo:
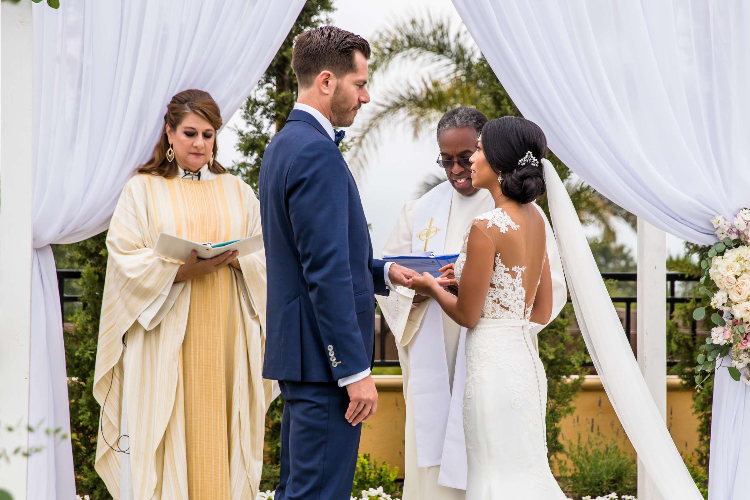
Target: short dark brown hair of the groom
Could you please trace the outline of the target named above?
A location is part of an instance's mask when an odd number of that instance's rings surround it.
[[[370,43],[357,34],[336,26],[303,31],[294,43],[292,69],[300,88],[313,85],[315,77],[323,70],[344,76],[356,69],[355,52],[370,58]]]

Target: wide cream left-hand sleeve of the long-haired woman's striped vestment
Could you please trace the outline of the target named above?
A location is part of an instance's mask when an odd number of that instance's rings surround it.
[[[139,176],[142,177],[142,176]],[[99,339],[94,376],[94,397],[102,406],[100,432],[98,436],[95,469],[107,484],[110,493],[117,498],[119,491],[119,453],[116,448],[121,436],[121,401],[124,390],[124,365],[122,352],[124,343],[139,343],[143,328],[136,323],[138,316],[174,282],[179,264],[154,255],[153,235],[148,231],[148,188],[142,178],[132,178],[121,193],[107,234],[107,274],[104,280]],[[178,303],[166,321],[187,321],[187,298],[190,284],[185,286]],[[181,317],[178,317],[181,316]],[[125,335],[129,333],[129,335]],[[161,345],[155,348],[158,357],[169,352],[176,357],[181,338],[158,336]],[[132,345],[133,349],[137,346]],[[167,355],[168,357],[169,355]],[[157,363],[157,360],[140,360],[142,363]],[[158,366],[163,366],[157,363]],[[172,365],[174,366],[174,365]],[[160,370],[166,370],[166,367]],[[174,372],[175,370],[172,370]],[[176,373],[166,374],[143,391],[160,391],[176,384]],[[146,394],[141,399],[148,399]],[[174,394],[170,394],[174,400]],[[168,398],[169,399],[169,398]],[[105,404],[106,401],[106,404]],[[133,402],[135,403],[135,402]],[[134,404],[132,406],[135,406]],[[162,408],[158,421],[166,427],[171,408]],[[161,430],[163,433],[163,429]],[[107,444],[109,443],[109,444]],[[133,443],[134,444],[134,443]],[[158,444],[158,443],[157,443]],[[112,445],[110,447],[110,445]],[[127,456],[125,456],[127,457]],[[148,480],[148,478],[145,478]],[[147,481],[149,482],[149,481]]]

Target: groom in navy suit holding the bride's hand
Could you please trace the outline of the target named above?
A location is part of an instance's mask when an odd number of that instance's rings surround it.
[[[374,294],[414,271],[373,259],[359,192],[338,142],[368,103],[370,45],[333,26],[297,37],[299,93],[266,148],[260,204],[268,265],[263,377],[284,396],[276,500],[349,500],[370,376]]]

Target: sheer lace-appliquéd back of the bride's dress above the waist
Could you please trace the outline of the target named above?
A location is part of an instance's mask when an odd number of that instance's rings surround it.
[[[520,220],[523,223],[516,223],[508,212],[496,208],[475,217],[463,238],[455,265],[459,283],[467,253],[472,253],[472,241],[478,243],[478,238],[487,238],[493,248],[492,275],[481,318],[528,320],[531,317],[546,256],[544,221],[530,205],[521,207]],[[481,247],[484,249],[487,245]],[[483,253],[483,250],[478,251]],[[463,284],[474,288],[471,283]]]

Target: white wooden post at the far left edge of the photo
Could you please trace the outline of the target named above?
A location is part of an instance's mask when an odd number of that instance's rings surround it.
[[[26,499],[31,334],[31,1],[0,2],[0,487]],[[8,433],[7,425],[17,425]]]

